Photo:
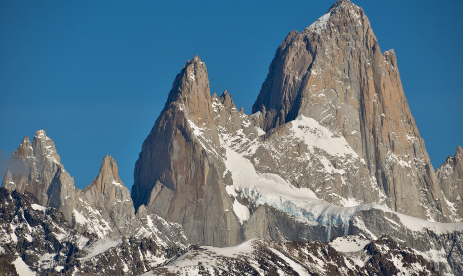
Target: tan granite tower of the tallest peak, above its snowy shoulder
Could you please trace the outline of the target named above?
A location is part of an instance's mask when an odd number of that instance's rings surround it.
[[[260,112],[266,132],[302,115],[344,137],[364,162],[360,170],[385,194],[381,203],[392,209],[437,221],[457,217],[442,201],[394,51],[381,52],[364,11],[348,0],[336,2],[302,33],[289,33],[252,112]]]

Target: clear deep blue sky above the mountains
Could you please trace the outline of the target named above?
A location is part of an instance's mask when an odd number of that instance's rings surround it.
[[[198,54],[212,93],[246,113],[289,31],[334,1],[0,1],[0,174],[45,129],[79,188],[112,155],[129,188],[176,74]],[[405,95],[434,168],[463,145],[463,3],[353,0]]]

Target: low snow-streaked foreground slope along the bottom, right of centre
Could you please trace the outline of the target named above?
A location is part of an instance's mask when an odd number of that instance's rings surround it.
[[[194,275],[440,275],[422,256],[390,237],[321,242],[253,239],[232,247],[192,246],[143,276]],[[350,239],[344,241],[344,239]],[[351,249],[350,244],[355,244]]]

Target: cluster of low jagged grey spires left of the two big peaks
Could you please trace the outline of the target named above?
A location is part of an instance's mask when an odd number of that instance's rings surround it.
[[[104,239],[150,237],[165,247],[188,244],[180,225],[146,212],[144,206],[135,215],[129,190],[112,157],[104,157],[90,185],[84,190],[76,188],[44,130],[36,132],[32,143],[26,136],[14,151],[2,187],[33,194],[39,205],[62,212],[78,233]]]

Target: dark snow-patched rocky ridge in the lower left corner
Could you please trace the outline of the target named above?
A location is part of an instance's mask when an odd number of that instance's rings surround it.
[[[29,192],[0,188],[0,214],[0,275],[139,275],[183,250],[150,236],[78,233]]]

